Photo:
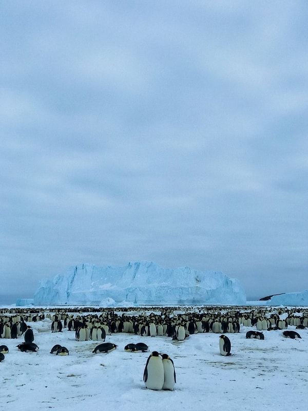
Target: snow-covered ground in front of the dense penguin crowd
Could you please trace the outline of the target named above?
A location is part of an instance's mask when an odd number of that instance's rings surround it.
[[[306,410],[308,407],[308,331],[297,330],[302,339],[286,339],[282,330],[263,331],[265,339],[246,339],[227,334],[232,356],[219,352],[219,335],[198,333],[183,342],[168,337],[140,337],[114,333],[106,342],[118,345],[108,354],[93,354],[100,344],[75,341],[75,333],[51,332],[51,320],[30,323],[35,353],[17,350],[24,338],[0,339],[9,352],[0,363],[0,409],[191,411],[209,409],[242,411]],[[289,326],[288,330],[295,330]],[[143,371],[150,352],[125,352],[128,343],[144,342],[150,351],[169,354],[174,360],[177,384],[174,391],[146,389]],[[66,346],[69,356],[50,354],[54,344]]]

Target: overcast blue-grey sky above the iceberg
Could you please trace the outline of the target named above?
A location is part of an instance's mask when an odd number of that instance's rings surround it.
[[[80,263],[308,288],[308,3],[2,1],[1,295]]]

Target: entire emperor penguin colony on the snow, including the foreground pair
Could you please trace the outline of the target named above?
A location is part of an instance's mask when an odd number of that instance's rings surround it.
[[[250,308],[250,309],[249,309]],[[230,356],[231,341],[226,333],[239,333],[240,327],[255,328],[246,332],[246,339],[264,340],[262,331],[283,330],[282,336],[291,339],[300,339],[298,332],[286,330],[288,326],[305,330],[308,327],[308,309],[299,310],[281,309],[273,307],[173,307],[161,308],[160,314],[157,307],[150,308],[71,308],[65,312],[55,309],[55,312],[47,312],[46,316],[41,309],[10,309],[0,310],[0,339],[21,339],[24,341],[15,347],[21,352],[38,352],[39,347],[34,342],[34,334],[31,322],[51,321],[50,330],[54,332],[71,331],[75,335],[75,341],[96,341],[94,354],[108,354],[118,348],[118,345],[105,342],[106,336],[121,333],[139,335],[140,337],[167,336],[174,343],[182,342],[190,335],[196,333],[220,333],[218,340],[219,352],[222,356]],[[152,311],[147,314],[148,311]],[[177,313],[180,311],[181,313]],[[121,314],[119,314],[119,312]],[[28,323],[28,324],[27,324]],[[159,340],[159,339],[156,339]],[[148,352],[149,347],[142,342],[128,343],[124,347],[125,352]],[[0,362],[5,360],[9,353],[9,347],[0,346]],[[51,354],[68,356],[66,347],[56,344]],[[174,362],[168,354],[152,351],[148,357],[143,381],[145,387],[152,390],[174,390],[176,384],[176,371]]]

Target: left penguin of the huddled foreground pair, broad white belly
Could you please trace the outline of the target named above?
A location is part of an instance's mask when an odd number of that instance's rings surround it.
[[[163,360],[157,351],[153,351],[148,357],[144,372],[143,381],[148,389],[159,390],[164,385],[164,365]]]

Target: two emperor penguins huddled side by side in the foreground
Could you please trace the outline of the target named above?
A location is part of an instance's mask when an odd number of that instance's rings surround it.
[[[167,354],[160,357],[159,352],[153,351],[147,359],[143,381],[148,389],[172,391],[177,382],[174,362]]]

